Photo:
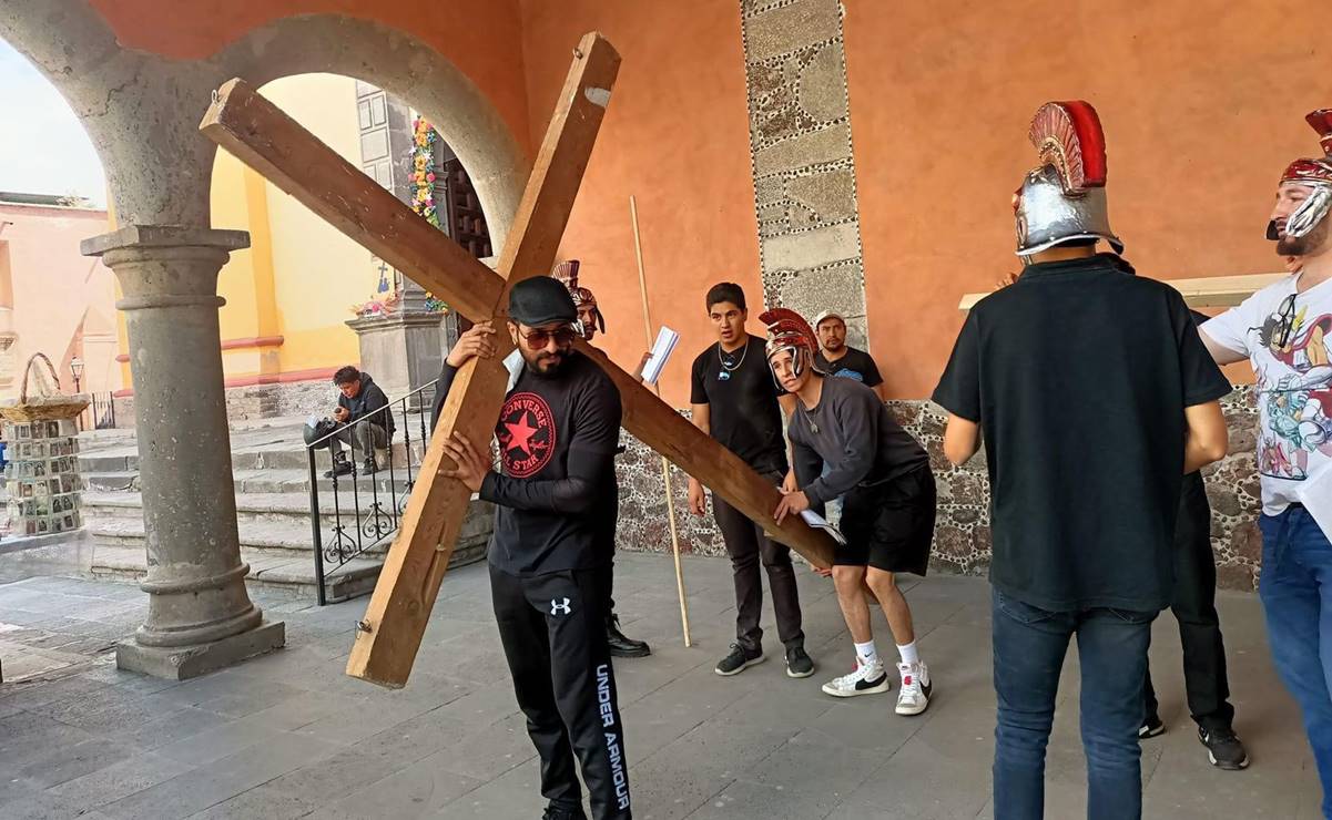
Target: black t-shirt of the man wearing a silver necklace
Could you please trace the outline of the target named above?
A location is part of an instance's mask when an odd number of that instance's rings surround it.
[[[786,473],[782,441],[785,394],[763,353],[763,339],[750,335],[739,350],[726,353],[714,343],[694,359],[690,403],[707,405],[715,438],[758,473]]]

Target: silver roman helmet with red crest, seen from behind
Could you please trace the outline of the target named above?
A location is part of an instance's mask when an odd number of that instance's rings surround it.
[[[1124,244],[1110,229],[1106,208],[1106,134],[1090,102],[1046,102],[1031,120],[1040,166],[1014,194],[1018,256],[1023,261],[1070,240]]]

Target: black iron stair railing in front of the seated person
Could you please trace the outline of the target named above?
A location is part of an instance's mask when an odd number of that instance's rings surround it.
[[[328,582],[330,579],[352,560],[385,546],[398,531],[408,499],[412,497],[412,487],[416,485],[416,469],[420,467],[420,458],[412,449],[413,442],[421,449],[422,455],[425,445],[429,442],[429,415],[434,403],[434,386],[436,382],[430,382],[418,387],[350,425],[338,425],[337,430],[306,445],[305,453],[310,473],[310,532],[314,536],[314,578],[321,607],[328,603]],[[374,458],[374,453],[360,453],[358,446],[353,447],[344,442],[342,446],[350,451],[349,458],[354,473],[338,475],[332,457],[332,439],[346,437],[356,441],[354,427],[358,423],[378,423],[388,429],[389,414],[397,419],[397,430],[388,439],[388,465],[365,475],[365,461]],[[393,441],[398,434],[402,437],[401,457],[396,454],[397,447],[394,447]],[[373,437],[370,438],[373,443]],[[318,450],[326,450],[330,455],[318,458]],[[320,463],[329,465],[330,477],[324,475]],[[332,482],[332,491],[328,494],[332,497],[332,510],[325,510],[321,501],[321,479]],[[328,524],[328,518],[332,518],[332,526]]]

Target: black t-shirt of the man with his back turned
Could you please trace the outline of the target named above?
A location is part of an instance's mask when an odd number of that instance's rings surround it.
[[[1031,265],[971,310],[934,393],[982,427],[991,582],[1044,610],[1169,604],[1184,407],[1231,390],[1183,297],[1132,273]]]

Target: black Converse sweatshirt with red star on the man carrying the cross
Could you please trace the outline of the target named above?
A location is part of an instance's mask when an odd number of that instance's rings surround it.
[[[434,422],[456,373],[445,362]],[[614,481],[621,415],[614,382],[585,355],[570,353],[554,375],[523,367],[496,423],[502,470],[481,485],[481,498],[498,507],[496,568],[545,575],[610,560],[595,548],[595,515],[603,514],[598,490]]]

